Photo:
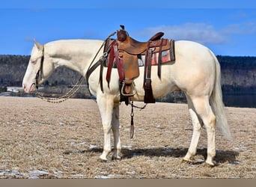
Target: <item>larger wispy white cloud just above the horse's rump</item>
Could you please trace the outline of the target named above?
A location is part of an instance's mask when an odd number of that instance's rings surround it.
[[[213,25],[206,23],[188,22],[183,25],[160,25],[157,27],[145,28],[139,31],[138,35],[147,34],[147,37],[156,32],[165,32],[165,38],[174,40],[193,40],[198,43],[225,43],[225,36],[216,31]]]

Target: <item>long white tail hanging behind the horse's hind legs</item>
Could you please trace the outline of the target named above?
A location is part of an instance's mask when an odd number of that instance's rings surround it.
[[[216,56],[211,52],[213,58],[215,58],[216,64],[216,79],[213,93],[210,96],[210,105],[213,109],[213,113],[216,115],[216,126],[222,135],[229,141],[232,141],[231,131],[228,126],[228,120],[225,114],[224,104],[222,102],[222,86],[221,86],[221,70],[219,61]]]

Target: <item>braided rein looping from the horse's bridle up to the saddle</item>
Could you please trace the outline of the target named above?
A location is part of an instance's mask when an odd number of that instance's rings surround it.
[[[112,33],[112,34],[109,34],[109,36],[106,38],[106,40],[109,39],[109,37],[112,37],[116,32]],[[91,73],[94,72],[94,70],[100,65],[102,64],[103,62],[103,59],[106,58],[106,55],[107,54],[103,54],[103,56],[100,58],[99,61],[97,61],[96,64],[94,64],[92,66],[92,64],[94,63],[95,61],[95,58],[97,57],[97,55],[99,54],[100,50],[103,48],[103,46],[105,45],[106,43],[106,40],[104,40],[103,44],[100,46],[100,49],[97,51],[96,55],[94,56],[93,60],[91,61],[91,64],[89,65],[88,67],[88,70],[86,71],[85,73],[85,76],[81,76],[79,81],[76,82],[76,85],[73,86],[73,88],[70,89],[70,91],[68,91],[67,93],[65,93],[63,96],[59,96],[59,97],[56,97],[56,98],[49,98],[49,97],[45,97],[43,95],[41,95],[40,93],[38,93],[37,91],[35,92],[35,95],[42,99],[43,101],[46,101],[46,102],[51,102],[51,103],[60,103],[60,102],[64,102],[66,101],[67,99],[70,99],[80,88],[80,86],[82,85],[82,82],[86,79],[87,81],[87,84],[88,84],[88,90],[89,90],[89,93],[91,94],[90,92],[90,89],[89,89],[89,82],[88,82],[88,79],[89,79],[89,76],[91,75]],[[41,57],[41,61],[40,61],[40,69],[37,71],[37,75],[35,77],[36,79],[36,88],[38,89],[38,79],[42,79],[43,77],[43,61],[44,61],[44,47],[43,47],[43,55]]]

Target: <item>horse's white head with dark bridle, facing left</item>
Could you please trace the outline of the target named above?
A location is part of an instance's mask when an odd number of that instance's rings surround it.
[[[49,63],[46,66],[44,46],[34,40],[34,47],[28,62],[28,67],[23,78],[22,86],[26,93],[35,91],[35,88],[43,83],[53,67]]]

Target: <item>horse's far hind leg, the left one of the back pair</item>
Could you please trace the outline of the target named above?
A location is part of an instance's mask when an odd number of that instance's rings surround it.
[[[193,124],[193,134],[192,134],[192,139],[191,143],[189,146],[189,150],[186,153],[186,156],[183,158],[184,161],[187,162],[192,162],[191,157],[195,156],[197,147],[198,147],[198,141],[201,135],[201,126],[202,122],[198,119],[198,114],[196,114],[194,105],[192,104],[192,101],[189,96],[186,96],[186,100],[189,105],[189,114],[192,118],[192,124]]]

